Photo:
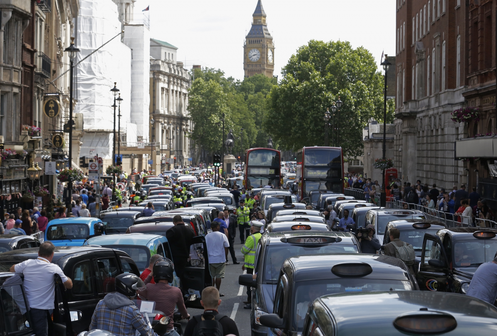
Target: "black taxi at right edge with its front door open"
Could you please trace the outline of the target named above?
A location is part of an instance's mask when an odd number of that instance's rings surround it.
[[[476,269],[494,260],[497,229],[450,227],[424,234],[417,281],[422,290],[466,294]]]

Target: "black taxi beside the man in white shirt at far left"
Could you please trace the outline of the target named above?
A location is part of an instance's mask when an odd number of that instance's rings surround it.
[[[38,248],[2,253],[0,272],[9,271],[12,265],[36,258]],[[115,292],[114,278],[117,275],[134,273],[140,276],[135,262],[126,253],[101,247],[60,246],[55,250],[52,263],[59,265],[73,281],[73,288],[67,289],[64,296],[71,315],[78,318],[72,322],[75,333],[88,330],[98,301],[105,294]]]

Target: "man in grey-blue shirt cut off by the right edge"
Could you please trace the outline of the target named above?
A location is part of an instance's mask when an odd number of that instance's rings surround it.
[[[476,270],[466,295],[494,304],[497,298],[497,257]]]

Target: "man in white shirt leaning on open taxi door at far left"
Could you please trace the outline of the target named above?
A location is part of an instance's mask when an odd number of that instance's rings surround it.
[[[55,273],[60,275],[66,288],[73,287],[73,282],[59,265],[52,264],[54,250],[52,242],[44,242],[40,245],[37,259],[29,259],[10,267],[11,272],[24,274],[24,290],[36,336],[48,336],[47,313],[54,309]]]

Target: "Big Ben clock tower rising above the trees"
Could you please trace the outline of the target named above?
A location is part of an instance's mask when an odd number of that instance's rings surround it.
[[[252,14],[252,27],[245,37],[244,45],[245,76],[262,73],[272,78],[274,71],[274,44],[266,25],[266,13],[261,0]]]

